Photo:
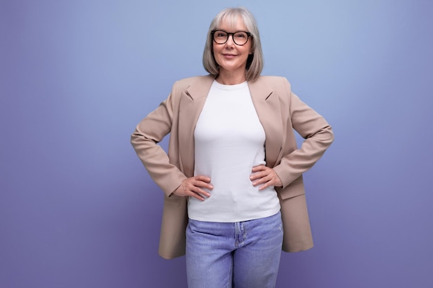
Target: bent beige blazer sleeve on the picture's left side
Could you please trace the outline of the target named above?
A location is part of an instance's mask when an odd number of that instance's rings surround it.
[[[142,119],[131,135],[131,144],[142,164],[167,197],[187,178],[158,145],[172,130],[174,113],[178,106],[175,91],[176,83],[167,99]]]

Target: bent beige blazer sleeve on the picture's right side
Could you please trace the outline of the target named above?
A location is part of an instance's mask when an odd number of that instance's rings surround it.
[[[281,162],[274,167],[275,172],[282,180],[282,188],[306,172],[324,154],[333,142],[333,131],[324,117],[313,108],[301,101],[297,95],[291,92],[290,84],[284,78],[284,89],[288,95],[288,109],[291,127],[303,138],[300,148],[283,155]]]

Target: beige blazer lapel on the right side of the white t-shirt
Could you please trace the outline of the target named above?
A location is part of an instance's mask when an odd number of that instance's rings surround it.
[[[278,95],[268,86],[264,77],[248,82],[252,103],[266,134],[266,166],[273,167],[281,157],[283,124]]]

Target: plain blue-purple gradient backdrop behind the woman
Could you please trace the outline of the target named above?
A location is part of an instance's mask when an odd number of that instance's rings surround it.
[[[433,287],[432,1],[1,0],[1,288],[186,287],[129,135],[238,4],[335,131],[305,175],[315,248],[277,287]]]

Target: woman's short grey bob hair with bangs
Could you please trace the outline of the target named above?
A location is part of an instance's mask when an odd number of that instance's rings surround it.
[[[218,29],[223,21],[228,23],[229,26],[235,26],[239,17],[241,17],[246,29],[252,35],[252,55],[248,56],[245,76],[247,81],[254,81],[260,76],[261,70],[263,70],[263,53],[261,52],[259,28],[257,27],[255,17],[250,11],[243,7],[225,8],[214,17],[210,23],[205,50],[203,51],[203,66],[211,75],[216,76],[219,74],[219,65],[214,58],[211,31]]]

